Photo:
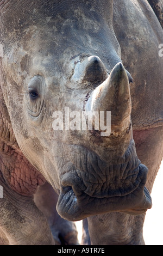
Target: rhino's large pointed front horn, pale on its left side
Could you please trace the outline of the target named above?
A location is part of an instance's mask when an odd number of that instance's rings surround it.
[[[131,97],[127,72],[116,64],[110,76],[91,94],[86,111],[111,111],[111,130],[122,131],[130,125]]]

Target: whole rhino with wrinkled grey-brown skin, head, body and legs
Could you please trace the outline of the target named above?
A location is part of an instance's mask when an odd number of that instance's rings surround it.
[[[152,8],[130,0],[0,7],[1,243],[77,244],[71,221],[87,217],[92,244],[143,244],[162,159],[163,34]],[[53,112],[65,107],[111,111],[110,136],[54,131]]]

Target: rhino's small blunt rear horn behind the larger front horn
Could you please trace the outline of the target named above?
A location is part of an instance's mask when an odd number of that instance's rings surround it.
[[[85,66],[83,82],[102,83],[108,77],[106,68],[97,56],[90,56]]]

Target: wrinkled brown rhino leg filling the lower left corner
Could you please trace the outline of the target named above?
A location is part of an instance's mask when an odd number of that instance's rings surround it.
[[[11,190],[2,175],[1,184],[1,242],[5,245],[54,245],[47,220],[37,209],[33,197],[22,196]]]

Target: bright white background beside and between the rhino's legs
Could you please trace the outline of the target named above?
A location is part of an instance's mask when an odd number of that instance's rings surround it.
[[[146,245],[163,245],[163,161],[152,190],[152,209],[146,213],[143,236]],[[82,221],[76,222],[79,242],[82,239]]]

